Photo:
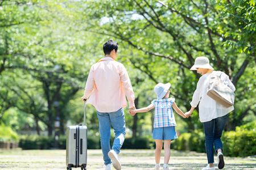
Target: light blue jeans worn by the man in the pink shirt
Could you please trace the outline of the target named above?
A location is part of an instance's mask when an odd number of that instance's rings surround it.
[[[97,116],[101,135],[101,150],[104,164],[108,165],[112,163],[108,156],[108,152],[110,151],[110,126],[113,127],[115,133],[112,150],[119,154],[123,141],[125,141],[125,112],[123,112],[123,108],[116,112],[110,113],[102,113],[97,111]]]

